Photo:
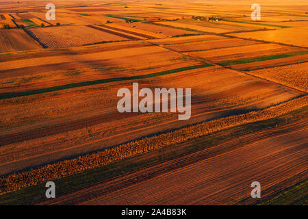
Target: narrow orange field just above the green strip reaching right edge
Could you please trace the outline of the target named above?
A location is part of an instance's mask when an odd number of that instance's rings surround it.
[[[251,40],[241,40],[241,39],[222,39],[222,40],[210,40],[206,42],[192,42],[186,44],[171,44],[166,45],[166,48],[173,49],[175,51],[203,51],[210,49],[218,49],[225,47],[236,47],[249,44],[257,44],[258,42]]]

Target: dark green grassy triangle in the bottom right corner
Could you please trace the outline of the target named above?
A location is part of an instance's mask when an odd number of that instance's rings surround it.
[[[307,205],[307,196],[308,181],[304,181],[260,205]]]

